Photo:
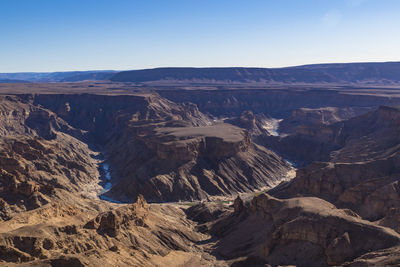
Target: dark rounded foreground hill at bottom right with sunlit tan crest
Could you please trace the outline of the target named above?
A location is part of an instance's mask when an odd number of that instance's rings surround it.
[[[219,239],[214,253],[235,266],[336,266],[400,242],[394,231],[318,198],[261,194],[240,212],[206,224]]]

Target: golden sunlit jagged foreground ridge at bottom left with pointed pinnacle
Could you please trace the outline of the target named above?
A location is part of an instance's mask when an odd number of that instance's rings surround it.
[[[134,204],[83,216],[65,226],[52,222],[0,233],[0,263],[24,266],[164,266],[166,262],[210,266],[215,257],[196,243],[206,235],[194,231],[181,209]],[[89,216],[88,216],[89,215]],[[76,218],[81,218],[76,220]],[[0,223],[0,227],[1,227]]]

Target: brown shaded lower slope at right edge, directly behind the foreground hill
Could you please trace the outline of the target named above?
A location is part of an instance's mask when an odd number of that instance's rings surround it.
[[[365,163],[313,163],[270,193],[283,198],[320,197],[375,221],[400,204],[398,160],[396,156]]]

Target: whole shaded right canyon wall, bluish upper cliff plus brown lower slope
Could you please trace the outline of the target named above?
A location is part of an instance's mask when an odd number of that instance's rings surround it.
[[[397,217],[392,208],[400,203],[399,125],[397,108],[380,107],[324,126],[331,130],[330,137],[322,139],[317,133],[314,138],[320,144],[335,144],[335,149],[323,151],[329,162],[312,163],[298,170],[295,179],[271,193],[279,197],[320,197],[368,220],[387,217],[393,225]]]

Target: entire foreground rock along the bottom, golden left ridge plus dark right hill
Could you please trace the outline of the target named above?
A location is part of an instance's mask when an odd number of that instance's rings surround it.
[[[400,263],[399,234],[318,198],[261,194],[251,202],[237,198],[234,208],[202,203],[185,214],[176,206],[149,205],[140,196],[134,204],[97,214],[75,210],[73,216],[63,225],[41,221],[0,233],[0,261],[6,266]]]

